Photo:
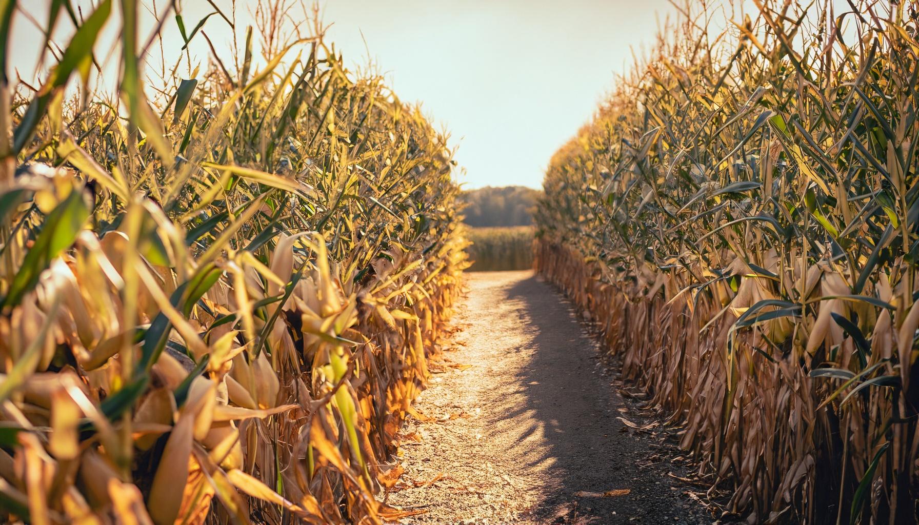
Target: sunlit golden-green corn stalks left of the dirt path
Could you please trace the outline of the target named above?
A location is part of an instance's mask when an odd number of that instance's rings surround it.
[[[284,8],[153,90],[115,4],[51,2],[74,34],[31,86],[0,1],[0,519],[398,519],[386,461],[467,266],[446,138]]]

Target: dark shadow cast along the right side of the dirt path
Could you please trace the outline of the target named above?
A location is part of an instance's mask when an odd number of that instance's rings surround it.
[[[650,458],[653,440],[630,434],[617,417],[641,422],[600,363],[572,307],[534,276],[505,288],[527,331],[528,360],[519,368],[516,395],[493,414],[495,438],[516,422],[512,455],[527,458],[521,470],[546,480],[534,519],[556,523],[710,523],[668,472],[683,475],[666,456]],[[522,403],[521,403],[522,399]],[[627,412],[620,412],[627,408]],[[621,496],[607,491],[628,489]],[[698,513],[698,514],[695,514]]]

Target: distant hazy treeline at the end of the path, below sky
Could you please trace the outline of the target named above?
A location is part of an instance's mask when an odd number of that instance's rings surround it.
[[[461,199],[468,203],[463,211],[470,226],[529,226],[542,192],[525,186],[471,189]]]

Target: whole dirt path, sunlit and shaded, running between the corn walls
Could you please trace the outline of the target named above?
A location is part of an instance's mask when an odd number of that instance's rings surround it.
[[[714,521],[686,495],[698,487],[668,474],[685,476],[677,452],[662,452],[675,448],[617,394],[560,294],[529,271],[467,282],[455,348],[416,405],[434,421],[405,429],[405,473],[388,502],[424,512],[402,523]]]

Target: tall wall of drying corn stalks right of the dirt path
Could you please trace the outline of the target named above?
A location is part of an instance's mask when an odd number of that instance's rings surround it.
[[[753,3],[681,5],[555,154],[536,265],[726,511],[913,523],[917,6]]]

